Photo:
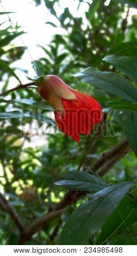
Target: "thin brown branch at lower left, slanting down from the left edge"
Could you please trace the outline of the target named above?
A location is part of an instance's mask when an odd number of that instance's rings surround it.
[[[20,230],[20,232],[22,232],[24,230],[24,226],[22,224],[20,217],[18,216],[14,208],[9,204],[8,200],[5,199],[5,197],[1,192],[0,192],[0,207],[2,210],[7,211],[9,213],[13,221],[16,223],[17,228]]]

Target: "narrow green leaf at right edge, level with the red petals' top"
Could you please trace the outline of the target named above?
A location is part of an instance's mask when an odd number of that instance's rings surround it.
[[[111,101],[108,103],[108,107],[112,107],[114,109],[124,109],[128,111],[135,111],[137,112],[137,104],[130,103],[128,101]]]

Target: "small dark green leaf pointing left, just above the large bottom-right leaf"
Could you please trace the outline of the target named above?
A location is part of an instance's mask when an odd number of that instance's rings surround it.
[[[70,190],[80,191],[99,191],[108,186],[107,183],[95,175],[77,171],[64,174],[54,184],[69,188]]]

